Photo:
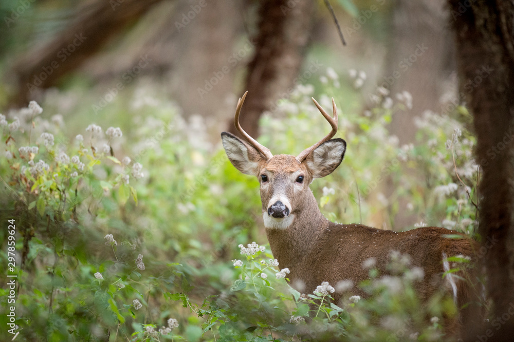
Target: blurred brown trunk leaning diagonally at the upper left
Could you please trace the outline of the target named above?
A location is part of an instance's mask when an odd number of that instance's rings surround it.
[[[52,41],[20,57],[13,67],[19,82],[14,104],[26,105],[34,90],[55,85],[160,1],[97,0],[84,5],[77,19]]]

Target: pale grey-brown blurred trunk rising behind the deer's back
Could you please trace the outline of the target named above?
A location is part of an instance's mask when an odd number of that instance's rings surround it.
[[[445,4],[445,0],[398,0],[392,8],[391,41],[383,77],[378,85],[389,89],[389,96],[395,101],[398,92],[407,90],[412,95],[412,108],[396,110],[389,125],[391,134],[398,137],[400,145],[414,141],[414,117],[421,116],[427,109],[439,111],[444,83],[454,70],[454,51]],[[414,173],[416,170],[404,168],[403,172]],[[387,198],[396,192],[391,179],[382,184],[382,191]],[[395,230],[414,224],[418,217],[406,210],[408,201],[399,198],[394,202],[399,205],[397,213],[381,221],[389,221]],[[390,213],[392,209],[390,204]]]

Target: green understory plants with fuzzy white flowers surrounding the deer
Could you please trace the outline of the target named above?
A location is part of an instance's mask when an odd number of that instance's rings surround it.
[[[316,88],[297,85],[264,116],[259,141],[273,154],[296,155],[329,129],[311,96],[326,109],[332,96],[338,105],[364,97],[371,109],[339,112],[342,164],[310,185],[323,214],[397,231],[444,226],[473,238],[480,168],[466,108],[423,113],[416,143],[400,145],[387,126],[394,110],[411,106],[410,94],[359,95],[351,90],[362,85],[359,74],[328,69]],[[315,293],[289,287],[267,244],[258,181],[230,164],[220,141],[209,142],[201,117],[183,118],[146,85],[78,127],[59,115],[58,98],[50,93],[42,107],[31,102],[0,117],[0,225],[14,220],[16,230],[11,238],[2,229],[0,258],[5,274],[15,262],[20,340],[447,337],[442,326],[456,315],[454,303],[437,296],[420,305],[413,286],[423,270],[408,255],[391,252],[387,277],[366,260],[370,280],[359,286],[367,298],[346,291],[347,281],[319,284]],[[399,211],[417,223],[392,226]],[[467,267],[466,259],[453,261]],[[329,300],[334,291],[344,293],[340,303]],[[8,323],[2,315],[3,340],[12,336]]]

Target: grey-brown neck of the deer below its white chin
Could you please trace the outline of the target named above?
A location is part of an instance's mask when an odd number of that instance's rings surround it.
[[[279,261],[279,268],[287,267],[291,273],[296,273],[294,270],[302,266],[329,221],[321,214],[311,191],[291,214],[295,214],[295,219],[289,227],[266,228],[266,236],[273,257]]]

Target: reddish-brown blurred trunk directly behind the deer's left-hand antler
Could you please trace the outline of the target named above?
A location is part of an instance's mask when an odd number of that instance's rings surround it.
[[[295,83],[309,43],[316,2],[263,0],[259,9],[255,53],[248,65],[244,90],[248,90],[241,126],[252,137],[259,135],[259,118],[275,102],[287,97]],[[229,131],[237,134],[232,121]]]

